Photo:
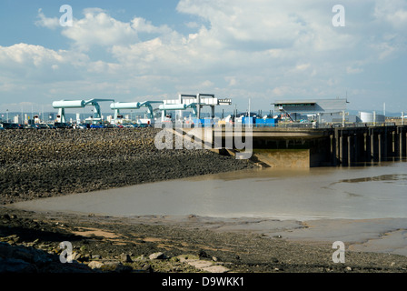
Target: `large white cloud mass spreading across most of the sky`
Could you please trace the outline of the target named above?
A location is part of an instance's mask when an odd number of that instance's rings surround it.
[[[182,23],[189,35],[171,24],[139,16],[118,20],[89,8],[73,27],[60,28],[72,40],[70,50],[0,47],[0,77],[7,77],[2,87],[13,87],[13,74],[27,80],[48,75],[57,83],[47,92],[69,88],[71,94],[159,96],[203,88],[241,99],[330,97],[348,87],[346,76],[361,77],[369,71],[365,66],[400,57],[406,46],[402,0],[343,5],[346,27],[338,28],[332,25],[333,5],[324,0],[181,0],[176,9],[188,15]],[[195,21],[188,22],[189,16]],[[35,24],[55,29],[58,19],[40,10]],[[101,48],[104,55],[94,54]]]

